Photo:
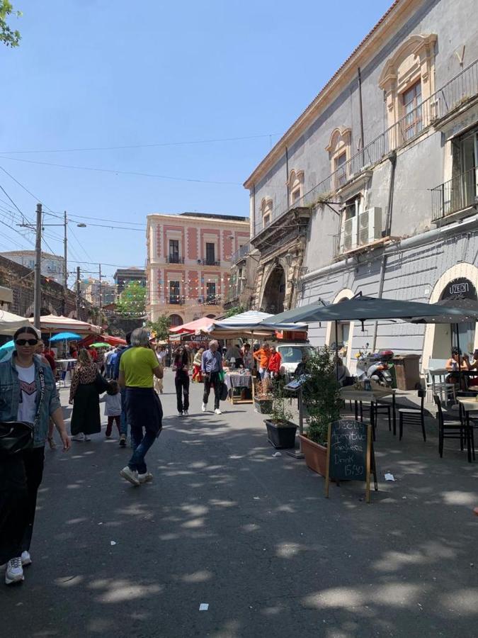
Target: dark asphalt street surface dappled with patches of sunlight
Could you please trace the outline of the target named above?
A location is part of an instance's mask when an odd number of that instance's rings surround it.
[[[440,461],[432,437],[399,445],[382,427],[372,504],[360,483],[326,500],[304,461],[273,457],[250,405],[203,415],[192,386],[178,418],[170,371],[165,388],[153,483],[120,478],[130,450],[104,433],[47,450],[33,565],[0,585],[2,637],[477,634],[478,464],[455,442]]]

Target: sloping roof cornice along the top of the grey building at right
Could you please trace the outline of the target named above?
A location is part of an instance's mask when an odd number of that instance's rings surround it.
[[[270,170],[275,162],[285,154],[286,147],[290,146],[302,133],[307,130],[309,125],[317,119],[319,114],[325,110],[338,94],[345,88],[347,84],[356,75],[357,67],[366,65],[377,52],[377,47],[382,46],[391,33],[399,30],[414,12],[425,0],[395,0],[392,6],[384,13],[382,18],[365,35],[360,44],[347,58],[343,65],[338,68],[336,73],[329,79],[323,89],[307,106],[305,111],[297,118],[297,120],[288,128],[282,138],[275,144],[271,151],[264,157],[260,164],[254,169],[249,177],[244,181],[244,188],[250,189],[258,179]]]

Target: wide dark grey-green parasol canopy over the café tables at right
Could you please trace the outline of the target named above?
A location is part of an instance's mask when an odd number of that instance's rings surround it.
[[[266,320],[266,325],[280,325],[284,321],[368,321],[377,319],[403,319],[412,321],[420,318],[422,323],[431,323],[433,317],[446,314],[449,320],[446,323],[456,323],[464,315],[462,308],[455,308],[453,302],[450,306],[441,306],[436,303],[419,303],[418,301],[404,301],[403,299],[384,299],[375,297],[356,296],[330,306],[319,303],[309,303],[285,313],[275,315],[273,319]],[[467,315],[478,320],[478,312],[467,311]],[[470,321],[470,318],[468,319]]]

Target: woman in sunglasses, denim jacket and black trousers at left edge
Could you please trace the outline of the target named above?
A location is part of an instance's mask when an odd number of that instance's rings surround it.
[[[33,424],[33,448],[0,459],[0,564],[6,564],[5,582],[23,581],[30,565],[30,543],[42,482],[45,441],[50,418],[63,449],[70,447],[62,408],[50,366],[35,357],[38,333],[18,328],[11,359],[0,363],[0,421]]]

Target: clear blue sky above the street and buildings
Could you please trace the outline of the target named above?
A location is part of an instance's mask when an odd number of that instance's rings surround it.
[[[13,4],[22,40],[0,47],[0,186],[30,220],[39,198],[88,224],[69,224],[70,269],[102,262],[110,276],[144,264],[148,213],[247,216],[242,182],[391,0]],[[0,191],[0,250],[32,246],[5,225],[19,217]],[[60,254],[61,233],[45,229]]]

